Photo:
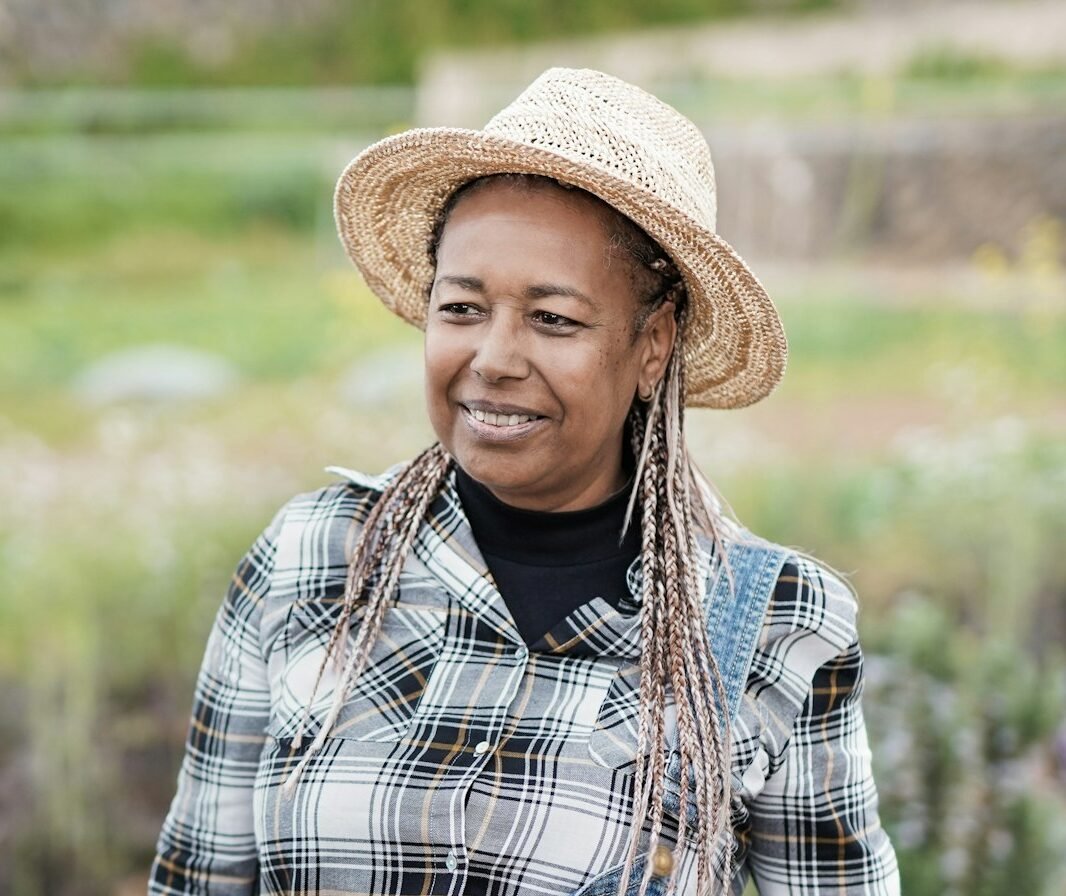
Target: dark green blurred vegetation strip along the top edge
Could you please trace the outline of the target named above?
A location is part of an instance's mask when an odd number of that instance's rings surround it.
[[[836,0],[359,0],[302,25],[249,29],[225,59],[206,62],[180,40],[144,39],[120,82],[174,85],[411,84],[427,50],[524,43],[645,26],[775,11],[802,13]],[[358,48],[353,50],[353,48]],[[25,76],[21,83],[33,83]],[[98,83],[97,72],[62,83]],[[37,83],[51,83],[42,81]]]

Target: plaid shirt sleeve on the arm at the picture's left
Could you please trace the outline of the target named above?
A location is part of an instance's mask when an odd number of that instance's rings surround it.
[[[282,512],[238,565],[208,637],[151,896],[258,892],[252,800],[270,715],[260,619]]]

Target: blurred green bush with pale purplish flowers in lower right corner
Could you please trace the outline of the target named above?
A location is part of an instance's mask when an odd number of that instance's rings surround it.
[[[1061,733],[1061,651],[960,628],[916,593],[868,626],[866,710],[905,893],[1062,892],[1066,815],[1047,745]]]

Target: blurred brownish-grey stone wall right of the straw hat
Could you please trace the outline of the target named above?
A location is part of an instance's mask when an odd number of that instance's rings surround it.
[[[1066,114],[709,132],[718,229],[743,255],[928,265],[1066,221]],[[1066,259],[1064,259],[1066,262]]]

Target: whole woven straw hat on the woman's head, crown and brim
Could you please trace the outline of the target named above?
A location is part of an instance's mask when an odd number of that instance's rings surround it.
[[[762,284],[715,232],[711,152],[696,126],[639,87],[551,68],[483,130],[417,128],[360,152],[337,183],[341,242],[397,314],[425,326],[433,224],[462,184],[553,177],[599,196],[671,256],[689,292],[685,404],[736,408],[773,391],[788,346]]]

